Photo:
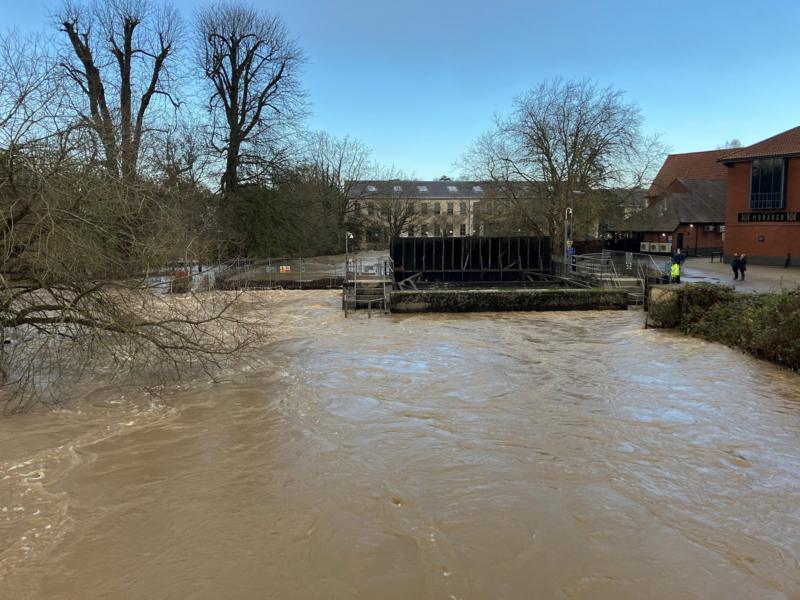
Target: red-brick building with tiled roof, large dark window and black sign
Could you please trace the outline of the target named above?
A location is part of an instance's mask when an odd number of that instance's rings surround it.
[[[800,127],[729,150],[725,255],[758,264],[800,260]]]

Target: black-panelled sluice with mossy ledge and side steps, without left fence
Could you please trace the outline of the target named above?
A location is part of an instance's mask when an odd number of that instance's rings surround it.
[[[348,256],[345,313],[625,310],[663,279],[652,258],[604,252],[553,260],[549,237],[396,238],[389,256]]]

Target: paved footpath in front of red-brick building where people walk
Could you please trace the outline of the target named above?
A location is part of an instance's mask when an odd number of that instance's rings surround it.
[[[708,258],[687,258],[681,281],[732,285],[737,292],[773,292],[800,287],[800,267],[784,269],[748,264],[745,280],[734,281],[733,270],[728,263],[712,263]]]

